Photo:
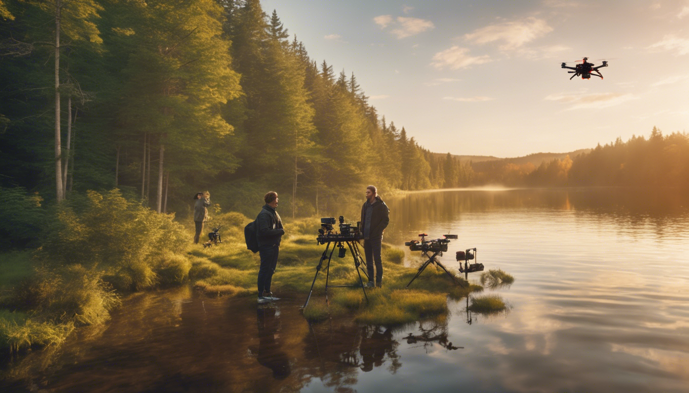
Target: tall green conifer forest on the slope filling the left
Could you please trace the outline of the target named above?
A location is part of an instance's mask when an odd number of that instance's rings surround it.
[[[232,208],[269,188],[312,214],[367,184],[471,182],[468,164],[379,116],[353,73],[313,61],[258,0],[3,4],[3,187],[49,200],[119,187],[158,211],[202,189]]]

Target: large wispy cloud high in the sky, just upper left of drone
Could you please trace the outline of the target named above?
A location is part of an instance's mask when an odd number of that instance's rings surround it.
[[[500,50],[513,50],[553,31],[546,21],[528,17],[520,21],[509,21],[489,25],[464,35],[471,43],[483,45],[500,42]]]

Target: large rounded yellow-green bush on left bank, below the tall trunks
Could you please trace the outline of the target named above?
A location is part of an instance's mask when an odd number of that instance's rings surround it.
[[[161,250],[183,253],[188,244],[173,215],[144,208],[113,189],[88,191],[86,198],[58,206],[39,255],[51,266],[97,266],[115,288],[141,290],[157,284],[154,265]]]

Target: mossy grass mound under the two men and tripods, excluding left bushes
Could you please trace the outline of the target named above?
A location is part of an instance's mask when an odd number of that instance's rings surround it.
[[[246,296],[256,301],[256,276],[260,260],[258,253],[246,250],[243,226],[249,218],[236,213],[217,215],[214,222],[223,223],[223,244],[211,248],[194,248],[189,279],[210,296]],[[316,266],[325,246],[316,244],[320,228],[318,218],[300,219],[285,224],[286,235],[280,246],[278,268],[273,277],[272,290],[282,296],[306,299],[316,275]],[[443,315],[447,312],[446,298],[460,299],[482,290],[462,277],[457,285],[446,273],[434,265],[424,270],[409,289],[404,289],[417,273],[417,267],[404,266],[401,248],[383,245],[384,277],[382,288],[367,290],[369,304],[360,288],[331,288],[325,300],[326,273],[331,285],[355,285],[359,276],[349,249],[345,258],[333,254],[329,272],[322,270],[304,316],[318,321],[337,315],[351,314],[362,323],[398,324]],[[365,270],[365,266],[362,266]],[[363,277],[364,282],[366,277]]]

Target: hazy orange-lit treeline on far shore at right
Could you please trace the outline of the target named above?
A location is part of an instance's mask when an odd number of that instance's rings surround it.
[[[579,153],[533,162],[495,160],[474,164],[475,184],[527,187],[664,187],[689,190],[689,134],[664,136],[653,127],[648,139],[633,136]]]

